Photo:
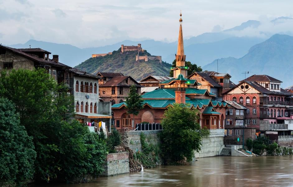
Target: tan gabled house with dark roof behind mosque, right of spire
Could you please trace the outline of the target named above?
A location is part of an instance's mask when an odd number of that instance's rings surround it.
[[[223,101],[222,93],[235,86],[230,78],[229,74],[217,73],[215,71],[194,72],[188,76],[188,79],[196,80],[199,83],[197,88],[207,89],[215,94],[215,100],[217,101]]]

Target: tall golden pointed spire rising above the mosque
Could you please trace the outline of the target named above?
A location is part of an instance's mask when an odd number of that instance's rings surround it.
[[[180,12],[180,26],[179,26],[179,37],[178,37],[178,47],[176,56],[176,67],[172,68],[173,77],[177,78],[179,74],[182,74],[184,77],[187,77],[188,67],[185,67],[185,57],[184,55],[184,46],[183,46],[183,33],[182,33],[182,14]]]

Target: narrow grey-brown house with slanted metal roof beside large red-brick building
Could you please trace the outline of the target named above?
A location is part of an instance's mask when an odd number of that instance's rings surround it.
[[[228,108],[226,109],[224,144],[242,145],[244,140],[244,144],[246,145],[246,140],[248,138],[255,139],[256,137],[256,128],[247,127],[245,125],[245,113],[247,108],[235,101],[224,102],[228,103]],[[239,142],[237,138],[239,138]]]

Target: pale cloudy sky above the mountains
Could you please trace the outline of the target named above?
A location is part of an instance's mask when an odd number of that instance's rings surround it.
[[[178,37],[180,10],[186,39],[248,20],[293,17],[292,7],[291,0],[0,0],[0,43],[34,39],[86,48],[123,40],[172,42]],[[281,25],[276,32],[291,27]],[[272,30],[266,24],[260,28]]]

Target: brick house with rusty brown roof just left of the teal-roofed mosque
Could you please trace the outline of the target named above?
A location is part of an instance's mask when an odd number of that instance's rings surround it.
[[[113,104],[122,103],[128,96],[130,86],[135,85],[137,93],[140,94],[141,86],[135,79],[130,76],[123,76],[121,73],[103,73],[98,72],[101,76],[99,95],[101,101],[110,101]]]

